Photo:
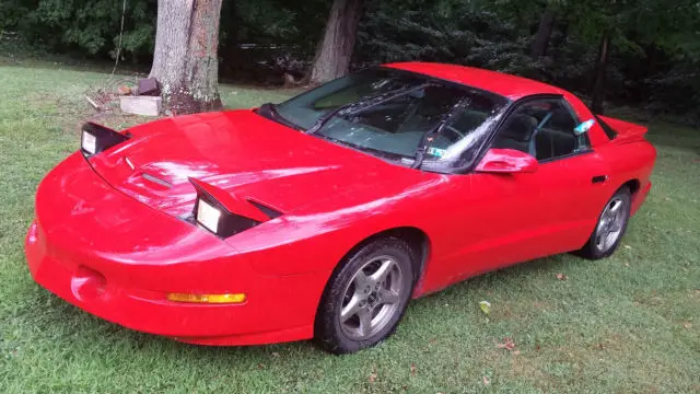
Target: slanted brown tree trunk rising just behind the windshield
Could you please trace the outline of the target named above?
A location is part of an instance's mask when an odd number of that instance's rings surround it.
[[[362,0],[334,0],[308,82],[324,83],[348,73],[361,16]]]

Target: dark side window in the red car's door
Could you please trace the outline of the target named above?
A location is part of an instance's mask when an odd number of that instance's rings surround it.
[[[565,157],[587,147],[585,136],[573,132],[576,124],[561,99],[527,102],[510,115],[492,148],[515,149],[540,161]]]

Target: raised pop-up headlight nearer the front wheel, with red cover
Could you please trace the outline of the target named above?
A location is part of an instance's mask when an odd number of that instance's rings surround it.
[[[282,213],[261,204],[238,198],[206,182],[189,178],[197,189],[194,221],[225,239],[252,229]]]

